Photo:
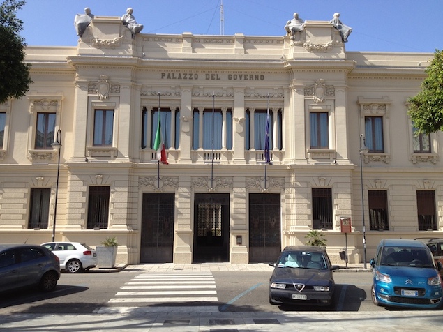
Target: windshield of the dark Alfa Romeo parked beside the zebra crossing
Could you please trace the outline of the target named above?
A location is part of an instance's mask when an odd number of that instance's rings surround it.
[[[278,261],[278,267],[324,270],[326,266],[326,259],[322,252],[283,252]]]

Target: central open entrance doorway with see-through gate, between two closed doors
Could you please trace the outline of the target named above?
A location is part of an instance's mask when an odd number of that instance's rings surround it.
[[[193,262],[229,262],[229,194],[195,194]]]

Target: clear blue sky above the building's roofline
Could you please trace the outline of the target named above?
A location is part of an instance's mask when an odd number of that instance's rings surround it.
[[[75,46],[76,14],[91,8],[118,16],[132,7],[142,33],[220,35],[222,0],[27,0],[17,15],[27,45]],[[340,13],[352,27],[347,51],[435,52],[443,49],[443,0],[223,0],[224,34],[284,36],[294,12],[329,21]]]

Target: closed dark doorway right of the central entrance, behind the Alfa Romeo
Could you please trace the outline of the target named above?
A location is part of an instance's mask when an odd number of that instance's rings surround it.
[[[280,195],[249,194],[249,262],[276,262],[280,251]]]

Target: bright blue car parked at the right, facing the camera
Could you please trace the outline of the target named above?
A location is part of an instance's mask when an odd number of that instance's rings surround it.
[[[442,279],[428,246],[421,241],[384,239],[370,260],[373,269],[371,298],[375,305],[439,308]]]

